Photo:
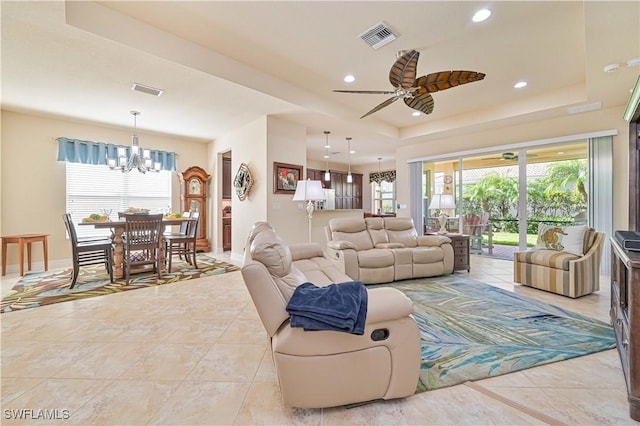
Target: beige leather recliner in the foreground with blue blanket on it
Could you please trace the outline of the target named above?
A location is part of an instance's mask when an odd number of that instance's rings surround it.
[[[254,225],[245,248],[244,282],[271,337],[287,406],[321,408],[412,395],[420,371],[420,333],[402,292],[367,289],[364,335],[303,331],[289,325],[295,288],[351,281],[315,243],[288,246],[265,222]]]

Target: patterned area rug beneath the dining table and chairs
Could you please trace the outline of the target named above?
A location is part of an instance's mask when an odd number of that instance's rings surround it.
[[[28,274],[22,277],[2,299],[0,312],[20,311],[52,303],[171,284],[240,269],[204,254],[198,254],[196,260],[198,269],[194,269],[184,261],[173,261],[171,273],[163,273],[161,279],[158,279],[157,274],[153,272],[134,274],[131,275],[128,285],[124,278],[117,278],[111,283],[102,265],[81,267],[80,276],[73,289],[69,289],[71,268]]]

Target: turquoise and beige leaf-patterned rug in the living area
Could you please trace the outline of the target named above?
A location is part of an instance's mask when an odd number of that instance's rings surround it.
[[[418,392],[615,347],[612,327],[459,275],[393,284],[422,336]]]

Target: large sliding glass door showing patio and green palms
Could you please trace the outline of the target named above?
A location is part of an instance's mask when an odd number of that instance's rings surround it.
[[[425,232],[470,235],[475,254],[512,259],[536,243],[539,224],[587,224],[587,141],[423,163]],[[452,196],[441,209],[438,198]]]

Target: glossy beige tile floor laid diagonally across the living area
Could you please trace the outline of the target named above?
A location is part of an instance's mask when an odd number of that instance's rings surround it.
[[[599,293],[571,300],[514,285],[510,261],[471,265],[470,278],[608,321],[606,278]],[[16,280],[3,279],[3,294]],[[357,408],[284,407],[239,272],[0,321],[3,425],[638,424],[615,349]],[[46,415],[54,419],[37,418]]]

